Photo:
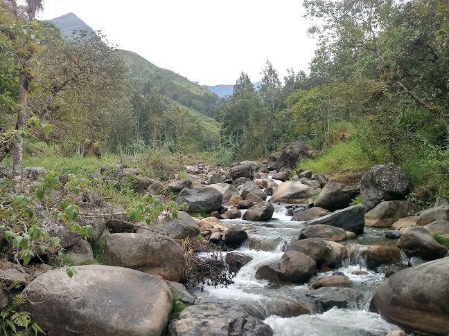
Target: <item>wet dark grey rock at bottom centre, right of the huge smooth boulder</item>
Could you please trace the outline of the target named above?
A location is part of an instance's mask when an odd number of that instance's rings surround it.
[[[202,303],[188,306],[168,326],[168,336],[272,336],[273,330],[238,306]]]

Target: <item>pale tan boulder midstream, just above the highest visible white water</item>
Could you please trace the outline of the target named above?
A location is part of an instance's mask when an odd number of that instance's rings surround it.
[[[271,203],[307,203],[315,189],[299,181],[287,181],[279,185],[270,199]]]

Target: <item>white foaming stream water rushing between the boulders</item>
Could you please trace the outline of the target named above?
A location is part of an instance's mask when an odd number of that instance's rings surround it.
[[[306,296],[310,291],[307,284],[274,284],[255,277],[256,269],[267,261],[278,261],[283,252],[297,240],[302,222],[291,221],[285,205],[274,205],[273,219],[267,222],[237,220],[223,221],[228,225],[250,227],[248,239],[237,251],[252,256],[252,261],[240,269],[234,283],[227,288],[205,286],[195,295],[201,302],[231,304],[245,308],[252,315],[261,318],[272,327],[275,336],[385,336],[391,330],[400,329],[389,324],[380,315],[369,312],[368,306],[377,286],[385,274],[373,272],[365,267],[362,258],[347,259],[342,267],[331,272],[319,272],[317,279],[333,272],[343,272],[353,288],[362,293],[362,299],[350,308],[332,308],[325,312],[313,312],[312,299]],[[386,239],[386,230],[365,228],[365,233],[350,241],[360,248],[371,244],[396,244],[396,239]],[[346,242],[343,242],[346,243]],[[404,259],[404,261],[406,261]],[[355,271],[367,274],[355,275]],[[409,335],[423,335],[410,333]]]

